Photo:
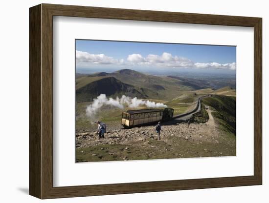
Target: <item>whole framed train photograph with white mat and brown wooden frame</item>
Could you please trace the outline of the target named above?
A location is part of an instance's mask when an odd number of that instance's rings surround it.
[[[262,184],[262,19],[30,8],[40,199]]]

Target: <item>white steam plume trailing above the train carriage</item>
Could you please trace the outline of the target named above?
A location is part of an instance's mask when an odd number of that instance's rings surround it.
[[[110,106],[115,106],[117,108],[123,109],[124,106],[126,105],[127,107],[130,108],[137,108],[138,106],[141,105],[146,105],[149,108],[166,108],[167,105],[164,105],[163,103],[157,103],[157,102],[150,102],[148,100],[140,100],[137,99],[136,97],[130,98],[125,95],[122,95],[121,98],[107,98],[105,94],[100,94],[96,99],[93,99],[92,104],[87,106],[86,109],[86,114],[89,117],[93,117],[98,109],[100,109],[104,105],[110,105]]]

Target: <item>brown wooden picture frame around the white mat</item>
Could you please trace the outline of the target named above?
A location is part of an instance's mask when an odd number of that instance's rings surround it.
[[[29,193],[40,199],[262,184],[262,19],[40,4],[30,14]],[[53,16],[145,20],[254,28],[254,175],[53,187]]]

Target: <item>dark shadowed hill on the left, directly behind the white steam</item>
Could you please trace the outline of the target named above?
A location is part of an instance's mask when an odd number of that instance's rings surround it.
[[[133,85],[126,84],[113,77],[92,81],[76,90],[78,102],[90,102],[100,94],[114,97],[121,97],[122,95],[138,98],[148,97],[143,91],[140,92]]]

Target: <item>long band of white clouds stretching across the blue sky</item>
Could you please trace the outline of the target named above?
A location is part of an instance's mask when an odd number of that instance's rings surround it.
[[[236,63],[218,63],[218,62],[194,62],[185,57],[173,56],[170,53],[163,52],[161,55],[149,54],[143,57],[141,54],[128,55],[127,59],[114,59],[113,57],[104,54],[90,54],[76,50],[76,61],[80,64],[114,64],[114,65],[138,65],[138,66],[158,66],[158,67],[175,67],[175,68],[211,68],[211,69],[226,69],[235,70]]]

